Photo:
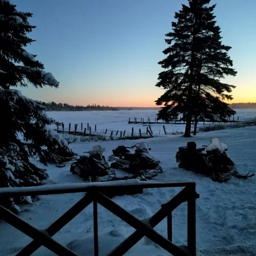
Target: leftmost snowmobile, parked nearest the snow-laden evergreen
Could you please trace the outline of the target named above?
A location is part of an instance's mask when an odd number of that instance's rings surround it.
[[[110,169],[110,165],[102,155],[104,151],[102,146],[96,145],[92,151],[83,152],[89,153],[89,156],[80,156],[80,158],[71,164],[70,172],[78,174],[85,180],[96,181],[99,177],[105,177],[106,180],[113,180],[115,172]]]

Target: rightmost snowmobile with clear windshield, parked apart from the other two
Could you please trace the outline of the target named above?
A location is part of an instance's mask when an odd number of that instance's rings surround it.
[[[187,146],[180,146],[176,154],[179,168],[201,173],[217,182],[228,181],[231,176],[244,179],[254,176],[252,172],[244,176],[238,173],[236,164],[226,154],[228,144],[217,137],[210,141],[202,148],[197,148],[194,141],[187,142]]]

